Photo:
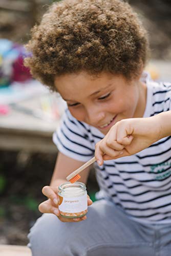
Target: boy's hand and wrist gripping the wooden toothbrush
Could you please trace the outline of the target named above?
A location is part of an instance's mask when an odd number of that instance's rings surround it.
[[[95,158],[103,160],[131,156],[156,142],[160,137],[157,116],[123,119],[111,127],[108,134],[96,144]]]

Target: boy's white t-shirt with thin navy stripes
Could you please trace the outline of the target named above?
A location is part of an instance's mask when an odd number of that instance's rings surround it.
[[[171,110],[171,83],[146,80],[146,86],[143,117]],[[95,127],[76,120],[66,110],[53,141],[61,153],[86,162],[94,156],[95,144],[103,137]],[[171,223],[171,136],[133,156],[94,165],[99,195],[112,200],[134,220]]]

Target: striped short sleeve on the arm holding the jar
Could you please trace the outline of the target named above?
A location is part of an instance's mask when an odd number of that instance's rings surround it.
[[[62,154],[75,160],[87,162],[94,156],[89,126],[75,119],[69,110],[63,114],[61,124],[53,134],[53,142]]]

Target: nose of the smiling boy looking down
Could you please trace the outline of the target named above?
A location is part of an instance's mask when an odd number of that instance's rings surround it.
[[[100,110],[98,106],[89,106],[86,109],[86,122],[93,126],[97,126],[104,116],[104,111]]]

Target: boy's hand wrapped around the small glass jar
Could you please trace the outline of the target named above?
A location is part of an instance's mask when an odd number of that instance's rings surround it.
[[[42,194],[48,197],[48,200],[39,204],[38,209],[42,214],[55,214],[58,219],[62,222],[79,222],[82,220],[86,220],[87,217],[83,216],[81,218],[64,218],[60,216],[58,209],[58,188],[55,186],[45,186],[42,188]],[[88,206],[93,202],[88,196]]]

